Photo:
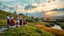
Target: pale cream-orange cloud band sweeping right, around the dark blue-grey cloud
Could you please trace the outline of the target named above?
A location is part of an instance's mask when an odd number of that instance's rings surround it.
[[[30,10],[25,10],[24,7],[23,9],[17,9],[17,12],[26,12],[26,13],[32,13],[32,12],[42,12],[42,11],[49,11],[55,8],[64,8],[64,4],[63,2],[60,2],[58,0],[56,0],[55,2],[51,2],[51,3],[40,3],[38,5],[38,3],[34,3],[32,4],[32,6],[37,6],[37,8],[31,8]]]

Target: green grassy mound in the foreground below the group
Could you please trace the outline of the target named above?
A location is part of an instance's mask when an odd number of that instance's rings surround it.
[[[3,35],[6,36],[54,36],[54,34],[36,28],[35,26],[27,25],[20,28],[7,29]]]

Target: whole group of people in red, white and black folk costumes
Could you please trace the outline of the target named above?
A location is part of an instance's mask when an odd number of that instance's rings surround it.
[[[7,15],[7,23],[9,28],[15,28],[20,26],[26,26],[26,17],[22,17],[22,15],[18,15],[16,19],[14,16]]]

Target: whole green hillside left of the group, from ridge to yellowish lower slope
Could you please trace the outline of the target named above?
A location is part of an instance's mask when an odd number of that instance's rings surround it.
[[[7,21],[5,20],[7,17],[7,14],[13,15],[14,17],[17,16],[16,14],[0,10],[0,27],[7,26]]]

